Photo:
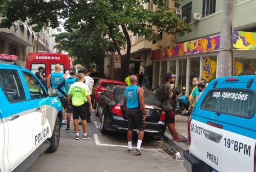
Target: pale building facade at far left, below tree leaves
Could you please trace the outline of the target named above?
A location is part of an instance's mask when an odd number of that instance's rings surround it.
[[[47,28],[35,33],[27,21],[16,21],[10,29],[0,28],[0,54],[17,55],[19,65],[25,67],[28,53],[46,51],[48,39]]]

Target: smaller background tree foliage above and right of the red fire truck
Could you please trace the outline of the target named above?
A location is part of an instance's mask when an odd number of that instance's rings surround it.
[[[115,50],[109,38],[103,38],[100,31],[60,33],[55,36],[57,48],[66,51],[75,58],[75,63],[79,63],[89,68],[91,63],[97,64],[97,70],[103,72],[103,59],[107,54],[112,54]]]

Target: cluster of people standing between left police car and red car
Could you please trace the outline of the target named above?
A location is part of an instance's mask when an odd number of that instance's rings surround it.
[[[87,122],[91,122],[92,101],[91,92],[94,80],[89,76],[89,70],[84,69],[76,75],[74,70],[61,72],[61,66],[56,64],[54,72],[46,78],[45,68],[39,67],[36,76],[47,87],[58,90],[58,97],[62,99],[62,126],[67,126],[66,132],[70,133],[71,114],[74,119],[75,139],[79,140],[78,120],[81,119],[82,139],[91,139],[87,135]],[[64,99],[64,100],[63,100]],[[67,122],[65,110],[67,112]]]

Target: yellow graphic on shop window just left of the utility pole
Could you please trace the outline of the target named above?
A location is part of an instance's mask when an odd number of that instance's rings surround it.
[[[207,82],[214,79],[216,75],[216,61],[210,57],[206,57],[203,61],[203,74],[202,78]]]

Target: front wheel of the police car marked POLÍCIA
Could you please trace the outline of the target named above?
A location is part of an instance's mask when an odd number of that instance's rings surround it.
[[[53,153],[55,152],[59,147],[59,136],[60,136],[60,120],[57,117],[54,125],[54,130],[52,133],[52,137],[49,138],[50,147],[47,149],[46,152]]]

